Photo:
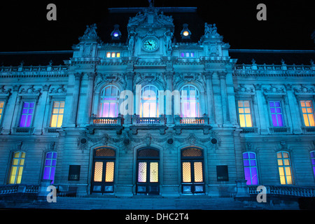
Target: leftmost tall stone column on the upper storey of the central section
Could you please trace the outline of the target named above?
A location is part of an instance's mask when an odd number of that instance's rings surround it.
[[[69,127],[76,127],[76,116],[78,114],[78,99],[79,99],[79,92],[80,92],[80,82],[83,73],[74,73],[74,86],[73,86],[73,93],[72,93],[72,104],[71,104],[71,113],[69,116]]]

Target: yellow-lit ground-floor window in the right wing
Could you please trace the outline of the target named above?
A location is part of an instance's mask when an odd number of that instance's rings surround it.
[[[293,176],[290,162],[290,155],[287,152],[276,153],[278,160],[280,183],[281,184],[293,184]]]

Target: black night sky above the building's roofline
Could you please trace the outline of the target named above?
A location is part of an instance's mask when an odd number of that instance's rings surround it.
[[[56,4],[57,21],[46,19],[48,3]],[[267,21],[256,19],[258,3],[267,6]],[[147,0],[1,1],[0,51],[71,50],[86,25],[106,18],[107,8],[143,6],[148,6]],[[155,0],[155,6],[197,7],[233,49],[314,50],[312,1]]]

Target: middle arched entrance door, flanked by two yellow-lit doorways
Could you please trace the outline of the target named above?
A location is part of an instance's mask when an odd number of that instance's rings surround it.
[[[159,152],[145,148],[137,156],[137,195],[159,195]]]

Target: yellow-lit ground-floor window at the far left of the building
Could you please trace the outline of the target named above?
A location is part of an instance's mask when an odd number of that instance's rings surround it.
[[[25,160],[24,152],[15,152],[13,154],[8,183],[10,184],[21,183],[24,160]]]

